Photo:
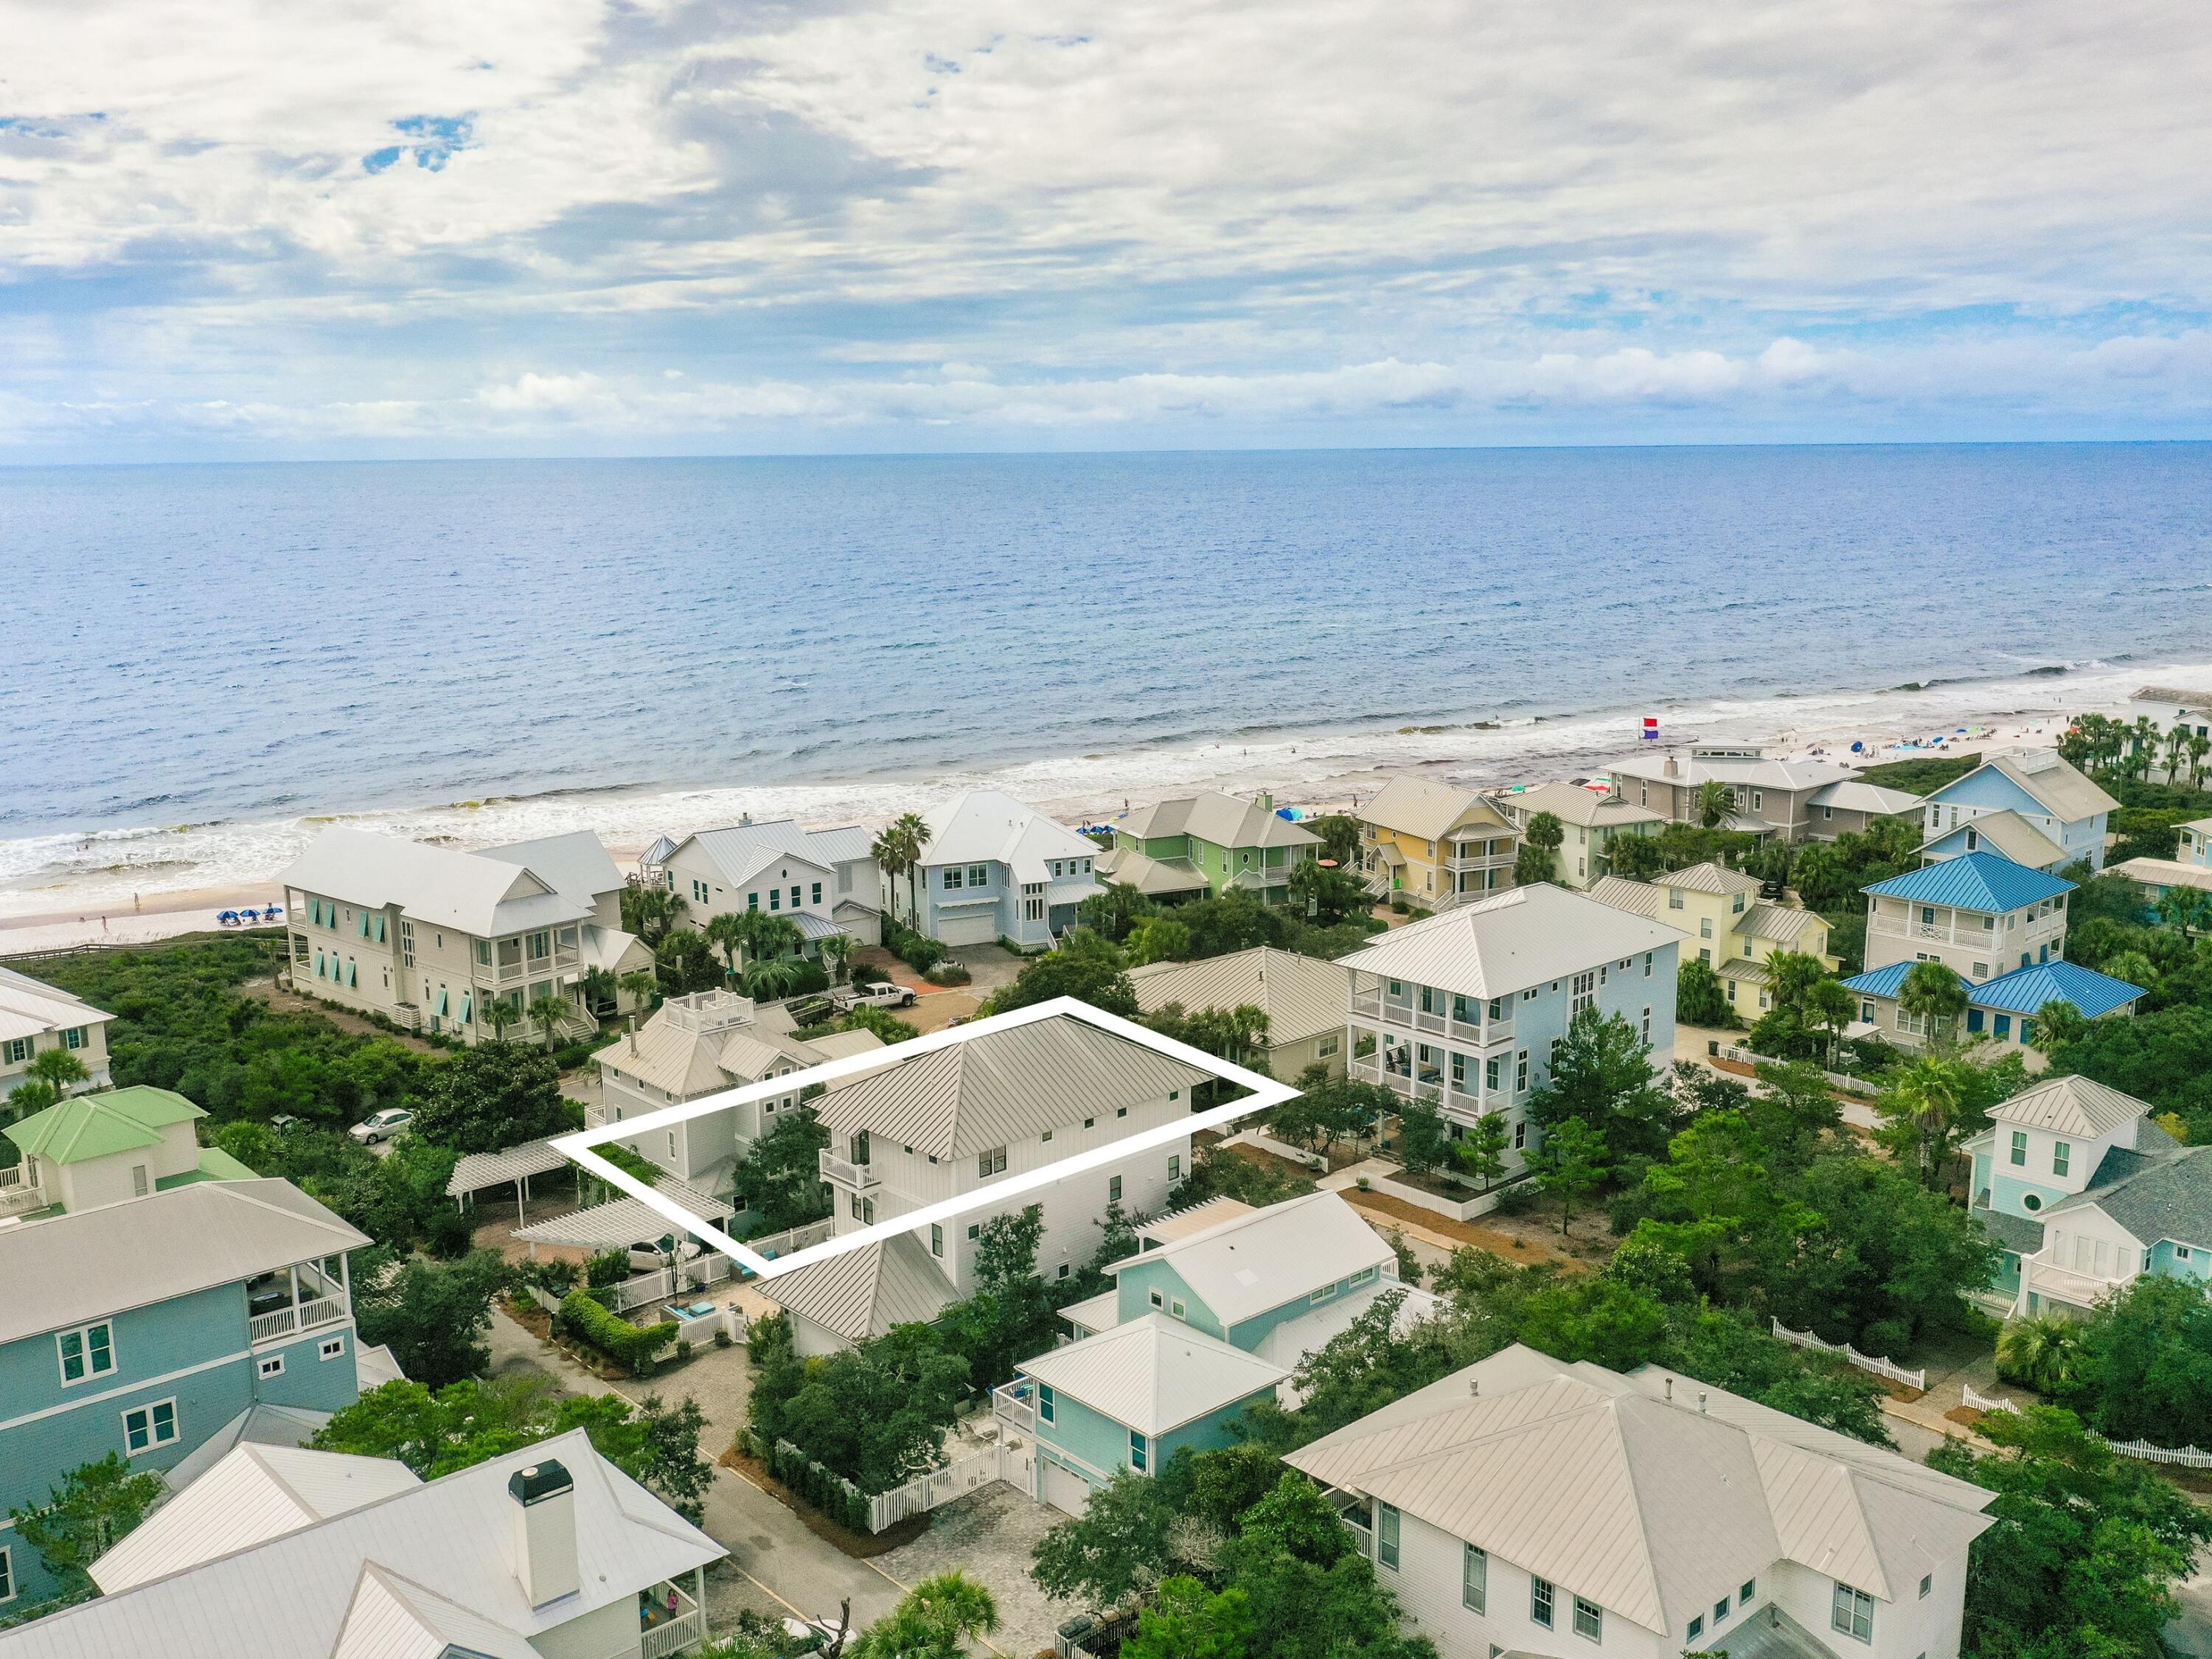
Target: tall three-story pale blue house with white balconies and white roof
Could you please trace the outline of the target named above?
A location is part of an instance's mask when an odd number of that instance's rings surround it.
[[[1655,1071],[1672,1064],[1679,953],[1677,929],[1551,883],[1460,905],[1343,958],[1349,1073],[1433,1102],[1453,1135],[1502,1115],[1517,1170],[1528,1095],[1577,1013],[1626,1020]]]

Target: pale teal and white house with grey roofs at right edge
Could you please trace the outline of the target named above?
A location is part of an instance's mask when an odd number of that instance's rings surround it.
[[[2141,1274],[2212,1279],[2212,1146],[2181,1146],[2088,1077],[2042,1082],[1989,1119],[1964,1146],[1973,1214],[2004,1248],[1984,1301],[2086,1312]]]

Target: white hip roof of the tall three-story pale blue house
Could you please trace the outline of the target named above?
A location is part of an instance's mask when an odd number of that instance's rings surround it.
[[[1338,960],[1358,973],[1495,998],[1663,945],[1681,945],[1681,933],[1542,883],[1396,927]]]

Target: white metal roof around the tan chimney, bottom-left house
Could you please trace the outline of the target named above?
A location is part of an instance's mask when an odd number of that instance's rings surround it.
[[[557,1460],[573,1480],[580,1588],[533,1608],[515,1575],[515,1500],[507,1482],[546,1460]],[[363,1568],[376,1566],[387,1586],[400,1586],[400,1599],[418,1621],[445,1632],[449,1646],[458,1641],[465,1652],[524,1659],[529,1637],[602,1608],[635,1617],[639,1590],[723,1553],[721,1544],[593,1451],[582,1429],[573,1429],[119,1595],[46,1615],[0,1635],[0,1655],[323,1659],[343,1652],[345,1659],[422,1659],[438,1652],[383,1646],[387,1639],[405,1641],[403,1628],[380,1628],[376,1641],[365,1641],[372,1632],[356,1624],[363,1617]],[[369,1624],[380,1626],[380,1617]],[[507,1646],[495,1646],[495,1637]]]

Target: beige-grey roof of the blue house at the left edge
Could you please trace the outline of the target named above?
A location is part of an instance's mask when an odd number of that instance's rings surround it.
[[[197,1181],[24,1221],[0,1230],[0,1343],[365,1243],[290,1181]]]

